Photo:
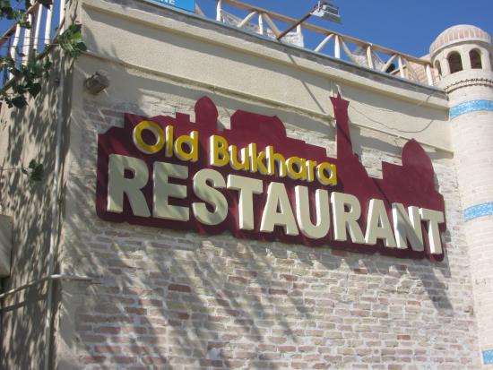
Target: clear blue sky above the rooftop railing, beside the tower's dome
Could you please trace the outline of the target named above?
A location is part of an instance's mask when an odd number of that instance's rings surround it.
[[[493,0],[331,0],[340,7],[342,25],[313,22],[411,56],[428,54],[429,45],[443,30],[456,24],[473,24],[493,33]],[[276,13],[299,18],[316,4],[312,0],[244,0]],[[198,0],[206,14],[215,12],[215,1]],[[316,40],[306,39],[308,46]]]

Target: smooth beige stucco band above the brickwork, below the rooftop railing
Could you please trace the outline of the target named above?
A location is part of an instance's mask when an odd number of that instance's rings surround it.
[[[162,11],[151,4],[130,4],[83,4],[86,41],[92,54],[178,82],[315,115],[332,115],[328,93],[337,92],[339,85],[344,98],[353,101],[355,124],[380,129],[389,126],[403,137],[450,149],[446,99],[439,90],[238,30],[226,32],[227,28],[211,22]],[[125,43],[119,43],[120,38]]]

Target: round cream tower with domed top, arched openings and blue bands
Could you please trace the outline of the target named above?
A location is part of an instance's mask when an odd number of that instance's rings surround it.
[[[484,368],[493,369],[493,72],[491,37],[459,25],[442,32],[429,48],[449,96],[471,278]]]

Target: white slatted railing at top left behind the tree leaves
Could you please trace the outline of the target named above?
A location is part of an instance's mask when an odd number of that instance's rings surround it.
[[[30,28],[23,28],[19,22],[16,22],[0,39],[0,55],[11,56],[17,66],[26,65],[33,50],[39,55],[50,47],[56,33],[63,30],[65,0],[55,0],[50,9],[36,3],[26,13]],[[0,78],[1,86],[4,86],[12,75],[4,68]]]

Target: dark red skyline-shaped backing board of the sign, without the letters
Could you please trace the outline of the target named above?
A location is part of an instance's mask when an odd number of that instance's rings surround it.
[[[329,234],[321,239],[310,239],[299,234],[296,237],[284,234],[281,227],[274,228],[273,233],[259,231],[267,187],[272,181],[281,182],[286,186],[290,197],[293,211],[295,208],[294,186],[304,185],[310,189],[310,210],[312,219],[316,219],[315,190],[325,188],[329,192],[337,191],[355,195],[361,204],[360,228],[364,231],[367,225],[368,203],[371,199],[380,199],[385,202],[385,208],[389,219],[392,219],[393,202],[399,202],[404,207],[417,206],[435,211],[445,211],[443,196],[435,190],[434,170],[431,160],[418,142],[411,140],[402,149],[402,166],[383,162],[383,178],[378,179],[368,176],[366,168],[360,163],[358,155],[352,151],[350,140],[350,129],[348,119],[349,102],[340,96],[331,98],[336,127],[337,127],[337,158],[329,158],[322,147],[303,142],[301,140],[287,137],[286,129],[277,116],[262,116],[243,110],[238,110],[231,116],[231,128],[218,130],[218,111],[209,98],[199,99],[195,103],[195,123],[190,122],[190,116],[177,113],[172,116],[154,116],[151,118],[125,114],[125,126],[123,128],[112,127],[107,133],[99,134],[98,137],[98,174],[96,211],[101,219],[112,222],[129,222],[131,224],[150,226],[156,228],[171,228],[175,230],[195,230],[201,234],[219,234],[231,232],[234,237],[249,238],[264,241],[281,240],[290,244],[304,244],[309,246],[328,245],[334,248],[350,250],[359,253],[376,253],[393,255],[401,258],[424,258],[427,256],[432,261],[441,261],[444,254],[430,254],[428,246],[428,233],[423,223],[423,236],[425,251],[416,252],[408,249],[397,249],[385,247],[381,240],[376,245],[360,245],[350,241],[338,242],[333,240],[333,228]],[[184,162],[175,157],[165,157],[164,152],[155,154],[144,154],[139,151],[132,140],[134,126],[143,120],[157,123],[163,129],[167,125],[173,125],[175,137],[189,134],[195,130],[199,133],[200,154],[195,163]],[[219,134],[229,144],[236,145],[238,149],[246,147],[250,142],[255,142],[259,151],[263,151],[268,145],[272,145],[276,152],[285,158],[297,156],[304,159],[316,160],[318,163],[329,162],[337,166],[338,185],[324,186],[320,183],[292,180],[289,177],[263,176],[259,173],[247,173],[235,171],[229,166],[223,168],[213,167],[209,164],[209,137]],[[264,194],[254,195],[255,229],[252,231],[238,228],[238,191],[221,189],[229,203],[229,216],[217,226],[206,226],[194,218],[190,211],[190,219],[186,222],[169,219],[143,218],[134,216],[130,203],[124,196],[124,211],[114,213],[107,211],[108,197],[108,156],[120,154],[142,159],[149,169],[149,181],[142,189],[147,206],[152,210],[152,168],[155,161],[163,161],[186,165],[189,176],[186,180],[172,179],[173,183],[187,186],[186,199],[171,199],[170,203],[190,207],[193,202],[203,202],[198,199],[192,188],[192,178],[202,168],[213,168],[221,172],[223,176],[235,174],[258,178],[264,181]],[[190,207],[191,208],[191,207]],[[332,217],[327,214],[326,217]],[[333,222],[331,222],[333,226]],[[445,230],[445,224],[440,225],[440,231]]]

